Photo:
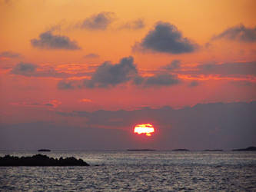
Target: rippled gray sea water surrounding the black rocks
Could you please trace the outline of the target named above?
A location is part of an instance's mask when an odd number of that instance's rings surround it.
[[[0,151],[0,156],[36,151]],[[256,191],[256,152],[52,151],[90,167],[0,167],[0,190]]]

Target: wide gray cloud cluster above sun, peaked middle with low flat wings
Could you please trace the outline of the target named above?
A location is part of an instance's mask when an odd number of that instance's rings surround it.
[[[103,64],[91,74],[91,79],[85,78],[80,80],[62,80],[58,82],[59,89],[74,88],[108,88],[115,87],[118,84],[132,84],[142,87],[171,86],[178,84],[180,81],[175,74],[154,74],[151,77],[142,77],[138,74],[134,58],[129,56],[113,65],[110,61]]]

